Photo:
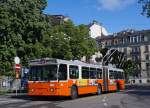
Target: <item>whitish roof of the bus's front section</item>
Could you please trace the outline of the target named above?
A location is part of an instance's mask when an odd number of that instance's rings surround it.
[[[48,64],[69,64],[69,65],[80,65],[85,67],[94,67],[94,68],[101,68],[101,64],[88,64],[78,60],[69,61],[69,60],[61,60],[55,58],[42,58],[42,59],[35,59],[29,62],[30,66],[35,65],[48,65]]]

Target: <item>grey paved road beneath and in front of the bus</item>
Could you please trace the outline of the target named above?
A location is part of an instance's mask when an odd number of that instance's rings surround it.
[[[149,108],[150,85],[130,85],[121,92],[84,95],[70,100],[61,97],[0,96],[0,108]]]

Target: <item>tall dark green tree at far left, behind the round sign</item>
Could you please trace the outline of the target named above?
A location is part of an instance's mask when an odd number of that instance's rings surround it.
[[[46,49],[40,43],[50,28],[42,14],[46,5],[46,0],[0,1],[1,73],[12,70],[16,55],[27,65],[29,59],[44,54],[41,50]]]

